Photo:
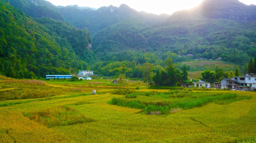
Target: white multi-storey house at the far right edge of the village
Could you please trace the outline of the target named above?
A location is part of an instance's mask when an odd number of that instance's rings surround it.
[[[233,77],[238,86],[256,87],[256,73],[244,73],[243,77]]]

